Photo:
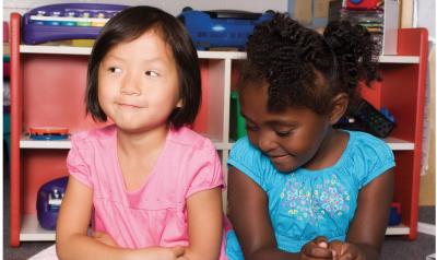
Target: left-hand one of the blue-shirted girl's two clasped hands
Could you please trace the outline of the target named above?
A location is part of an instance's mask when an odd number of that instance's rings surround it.
[[[299,253],[299,259],[334,259],[335,252],[329,248],[329,245],[326,237],[316,237],[312,241],[304,245]]]

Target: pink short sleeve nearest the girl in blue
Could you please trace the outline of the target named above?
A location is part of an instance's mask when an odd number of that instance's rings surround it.
[[[187,198],[202,190],[224,187],[222,166],[217,152],[211,141],[208,140],[208,143],[198,156],[196,156],[196,159],[200,161],[201,164],[192,176]]]

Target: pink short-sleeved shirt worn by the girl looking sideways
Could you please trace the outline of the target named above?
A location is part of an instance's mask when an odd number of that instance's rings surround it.
[[[94,229],[123,248],[187,246],[188,197],[224,186],[213,143],[186,127],[170,130],[145,184],[129,192],[116,133],[109,126],[74,134],[67,159],[70,174],[93,190]]]

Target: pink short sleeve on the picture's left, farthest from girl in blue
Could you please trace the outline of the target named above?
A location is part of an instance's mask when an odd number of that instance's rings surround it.
[[[67,156],[67,168],[71,176],[92,188],[91,172],[88,164],[86,163],[86,147],[84,140],[80,137],[72,137],[71,150]]]

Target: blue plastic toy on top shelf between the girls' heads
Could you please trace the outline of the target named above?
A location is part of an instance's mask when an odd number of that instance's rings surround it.
[[[178,19],[185,24],[199,50],[211,48],[244,49],[255,25],[272,17],[271,12],[182,10]]]

